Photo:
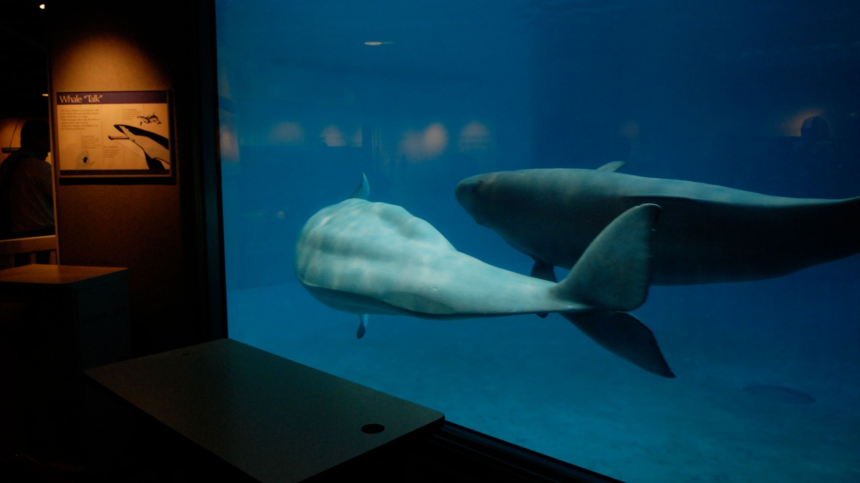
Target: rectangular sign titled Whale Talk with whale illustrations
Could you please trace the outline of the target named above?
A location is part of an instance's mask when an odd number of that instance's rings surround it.
[[[60,177],[170,176],[166,90],[58,92]]]

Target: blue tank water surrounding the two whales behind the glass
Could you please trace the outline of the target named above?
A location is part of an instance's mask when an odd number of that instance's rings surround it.
[[[860,481],[860,256],[653,287],[635,314],[675,379],[555,314],[373,316],[356,339],[358,317],[292,272],[299,229],[362,172],[373,201],[519,273],[531,259],[458,205],[459,180],[624,160],[628,174],[858,196],[860,4],[216,4],[231,338],[630,483]],[[802,131],[815,116],[826,130]]]

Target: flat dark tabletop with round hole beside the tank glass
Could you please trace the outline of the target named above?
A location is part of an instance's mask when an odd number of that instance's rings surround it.
[[[445,420],[427,407],[232,339],[85,374],[264,483],[310,478]],[[365,425],[384,431],[368,433]]]

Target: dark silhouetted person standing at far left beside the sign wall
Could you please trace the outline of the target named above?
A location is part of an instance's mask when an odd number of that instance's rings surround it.
[[[53,235],[53,178],[48,125],[37,119],[21,128],[21,149],[0,164],[0,237]]]

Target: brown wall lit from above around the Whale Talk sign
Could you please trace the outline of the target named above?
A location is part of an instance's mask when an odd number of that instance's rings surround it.
[[[130,269],[132,344],[138,355],[194,342],[195,294],[187,268],[194,246],[183,239],[182,224],[182,210],[193,211],[194,199],[183,208],[181,190],[193,184],[190,175],[183,176],[183,163],[192,163],[194,156],[186,127],[194,113],[182,106],[194,96],[187,86],[193,85],[188,78],[194,77],[197,38],[194,10],[176,4],[51,5],[52,97],[64,91],[170,89],[176,107],[175,179],[158,184],[60,180],[57,186],[60,263]],[[183,82],[186,87],[179,87]]]

